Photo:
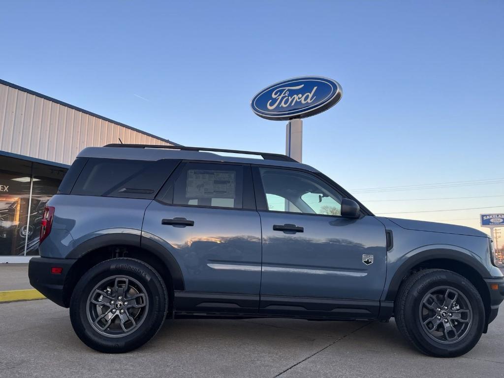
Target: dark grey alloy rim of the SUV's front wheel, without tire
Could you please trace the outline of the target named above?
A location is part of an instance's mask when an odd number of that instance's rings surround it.
[[[420,303],[420,320],[427,336],[438,343],[462,340],[472,326],[472,307],[467,297],[451,286],[429,290]]]

